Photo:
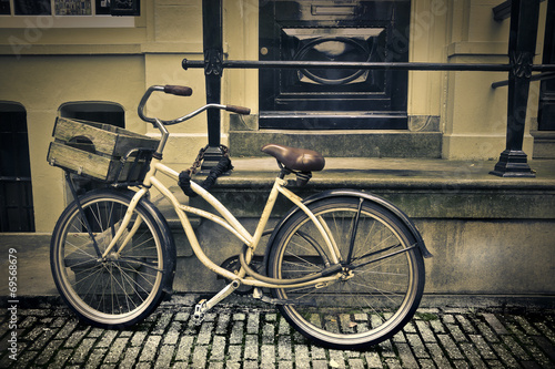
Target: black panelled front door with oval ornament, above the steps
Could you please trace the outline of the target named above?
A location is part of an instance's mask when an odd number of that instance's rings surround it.
[[[260,60],[408,61],[410,1],[260,1]],[[406,71],[260,70],[261,129],[406,129]]]

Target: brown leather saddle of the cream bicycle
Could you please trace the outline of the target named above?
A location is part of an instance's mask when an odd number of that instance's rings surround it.
[[[322,171],[325,165],[324,156],[312,150],[268,144],[262,147],[262,152],[272,155],[291,171],[317,172]]]

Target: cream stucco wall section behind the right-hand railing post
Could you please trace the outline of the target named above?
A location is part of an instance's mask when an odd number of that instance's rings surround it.
[[[454,1],[446,11],[445,50],[448,62],[508,63],[509,19],[495,21],[498,1]],[[546,3],[541,6],[535,62],[541,62]],[[444,94],[445,158],[497,158],[505,148],[507,88],[492,89],[507,73],[450,72]],[[524,152],[532,155],[531,121],[537,117],[537,82],[531,85]]]

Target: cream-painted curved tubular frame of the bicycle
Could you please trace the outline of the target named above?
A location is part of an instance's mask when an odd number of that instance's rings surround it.
[[[212,221],[221,226],[223,226],[225,229],[231,232],[235,237],[241,239],[244,244],[248,245],[248,254],[245,257],[246,263],[249,264],[251,262],[252,256],[254,255],[254,252],[258,247],[258,244],[262,237],[262,234],[265,229],[265,226],[268,225],[268,221],[270,219],[270,215],[273,211],[273,207],[275,205],[276,198],[279,194],[284,195],[286,198],[289,198],[293,204],[299,206],[314,223],[316,228],[320,230],[320,233],[323,236],[323,239],[326,243],[330,256],[331,256],[331,262],[333,264],[339,264],[341,263],[341,256],[340,252],[337,248],[337,245],[335,244],[335,240],[333,239],[333,236],[327,228],[327,225],[323,219],[319,219],[303,203],[302,198],[296,196],[294,193],[285,188],[286,181],[282,178],[276,178],[272,189],[270,192],[270,196],[266,201],[266,204],[264,206],[264,209],[262,212],[262,215],[260,217],[259,224],[255,228],[255,232],[253,235],[251,235],[243,226],[242,224],[231,214],[231,212],[222,204],[220,201],[218,201],[212,194],[210,194],[208,191],[202,188],[200,185],[198,185],[194,182],[191,182],[191,188],[199,195],[201,196],[204,201],[206,201],[210,205],[212,205],[216,212],[220,214],[215,215],[213,213],[195,208],[189,205],[183,205],[181,204],[176,197],[170,192],[170,189],[162,184],[162,182],[157,178],[157,173],[163,173],[170,178],[178,181],[179,180],[179,173],[170,168],[169,166],[164,165],[161,163],[160,158],[153,158],[151,162],[151,168],[149,173],[147,173],[147,176],[143,181],[144,186],[140,188],[137,194],[133,196],[130,206],[125,213],[125,216],[122,219],[122,225],[119,229],[119,232],[114,235],[112,242],[105,249],[104,254],[102,257],[107,257],[113,247],[117,245],[119,238],[123,234],[123,229],[127,228],[131,221],[131,215],[141,198],[150,191],[149,188],[153,186],[157,188],[165,198],[170,201],[172,204],[180,222],[181,225],[185,232],[185,235],[191,244],[191,247],[195,254],[195,256],[199,258],[199,260],[210,270],[219,274],[220,276],[230,279],[235,283],[234,288],[236,289],[239,287],[239,284],[242,285],[248,285],[248,286],[253,286],[253,287],[266,287],[266,288],[297,288],[297,287],[304,287],[304,286],[311,286],[311,285],[319,285],[319,284],[324,284],[327,285],[330,283],[333,283],[341,277],[340,273],[334,273],[331,276],[325,276],[325,277],[314,277],[313,280],[307,280],[303,283],[297,283],[297,284],[287,284],[287,285],[282,285],[282,284],[272,284],[268,281],[262,281],[259,279],[255,279],[253,277],[248,277],[246,276],[246,270],[244,268],[241,268],[239,274],[234,274],[216,264],[214,264],[202,250],[200,243],[196,238],[196,235],[194,233],[193,227],[191,226],[191,223],[189,222],[189,217],[186,216],[186,213],[191,213],[198,216],[201,216],[203,218],[206,218],[209,221]],[[119,246],[118,253],[121,252],[129,239],[132,238],[134,232],[139,228],[141,222],[135,222],[133,225],[133,228],[129,232],[128,236],[123,240],[123,243]],[[239,284],[236,284],[239,283]]]

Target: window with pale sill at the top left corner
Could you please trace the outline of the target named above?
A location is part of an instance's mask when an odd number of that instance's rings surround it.
[[[0,0],[0,27],[134,27],[139,0]]]

